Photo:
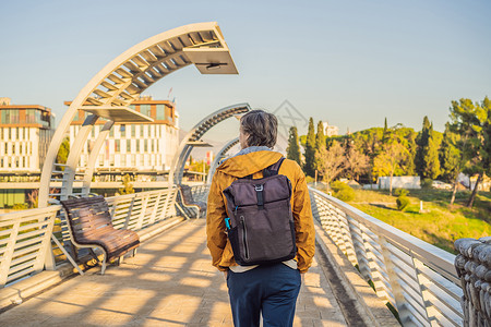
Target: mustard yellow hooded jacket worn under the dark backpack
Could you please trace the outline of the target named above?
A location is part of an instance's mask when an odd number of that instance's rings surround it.
[[[223,191],[239,178],[249,174],[253,174],[254,179],[262,178],[262,170],[280,158],[282,154],[276,152],[253,152],[231,157],[216,169],[208,194],[206,234],[213,265],[219,270],[226,270],[229,266],[237,266],[226,234],[225,218],[227,213]],[[288,159],[283,161],[278,173],[286,175],[291,181],[291,209],[298,249],[295,259],[300,272],[306,272],[312,264],[315,252],[315,230],[306,177],[300,166]]]

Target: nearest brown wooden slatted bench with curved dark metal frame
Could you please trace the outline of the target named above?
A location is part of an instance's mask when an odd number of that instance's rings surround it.
[[[106,263],[136,250],[140,245],[139,234],[132,230],[115,229],[109,207],[104,196],[77,197],[61,201],[67,213],[67,225],[72,243],[77,247],[99,247],[104,253],[101,274]]]

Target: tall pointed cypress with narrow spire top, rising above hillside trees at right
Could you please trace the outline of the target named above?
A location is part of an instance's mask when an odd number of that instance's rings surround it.
[[[427,116],[421,133],[418,135],[416,152],[416,170],[422,178],[436,179],[440,175],[439,147],[433,135],[433,125]]]

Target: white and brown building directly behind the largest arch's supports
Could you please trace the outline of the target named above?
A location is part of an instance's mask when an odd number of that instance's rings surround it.
[[[70,102],[65,102],[70,105]],[[176,106],[167,100],[141,97],[130,106],[154,119],[139,124],[115,124],[98,154],[97,171],[163,172],[170,168],[179,146],[179,118]],[[88,113],[79,110],[70,126],[70,145],[73,144]],[[81,156],[81,166],[88,160],[94,143],[104,126],[99,119],[92,130]]]

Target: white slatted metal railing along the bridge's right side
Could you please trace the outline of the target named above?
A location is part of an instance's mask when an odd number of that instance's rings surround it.
[[[312,210],[403,326],[463,326],[455,255],[310,189]]]

